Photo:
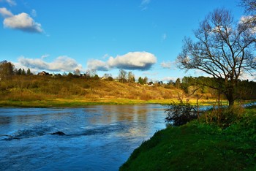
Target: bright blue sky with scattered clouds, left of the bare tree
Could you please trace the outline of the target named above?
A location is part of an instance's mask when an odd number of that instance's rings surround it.
[[[176,66],[184,37],[209,12],[238,0],[0,0],[0,61],[37,74],[96,69],[97,75],[175,81],[203,75]]]

